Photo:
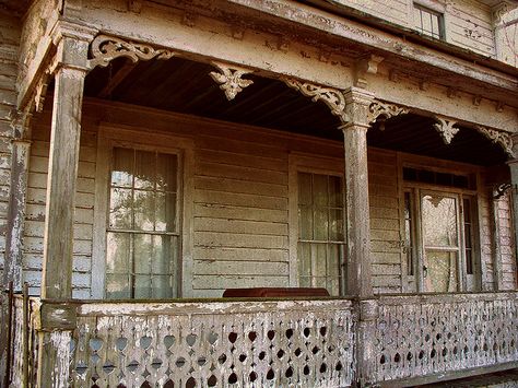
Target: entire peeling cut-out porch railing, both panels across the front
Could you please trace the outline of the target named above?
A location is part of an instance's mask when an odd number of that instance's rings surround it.
[[[73,310],[73,331],[45,334],[60,349],[63,387],[392,387],[518,367],[516,292]],[[14,360],[14,377],[23,365],[36,366]]]

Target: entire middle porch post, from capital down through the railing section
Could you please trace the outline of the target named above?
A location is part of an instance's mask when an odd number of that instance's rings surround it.
[[[348,121],[341,126],[345,153],[345,210],[348,244],[348,294],[357,296],[355,340],[357,386],[374,379],[373,351],[378,303],[373,298],[370,222],[368,205],[367,130],[373,95],[351,87],[344,93]]]

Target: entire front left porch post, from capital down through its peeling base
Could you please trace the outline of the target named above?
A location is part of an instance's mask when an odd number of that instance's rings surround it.
[[[70,339],[74,309],[59,305],[72,298],[73,219],[78,176],[83,85],[93,34],[81,26],[61,24],[54,35],[56,60],[52,124],[45,211],[38,387],[68,387]],[[44,314],[45,313],[45,314]],[[61,320],[64,319],[64,324]]]

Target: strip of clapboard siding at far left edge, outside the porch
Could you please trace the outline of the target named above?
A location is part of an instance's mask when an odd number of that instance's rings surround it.
[[[9,114],[16,104],[15,83],[21,36],[20,21],[5,11],[0,11],[0,279],[3,279],[13,136]]]

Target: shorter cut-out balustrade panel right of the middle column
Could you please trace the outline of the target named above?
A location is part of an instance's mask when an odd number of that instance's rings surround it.
[[[516,293],[381,296],[373,380],[518,361]]]

